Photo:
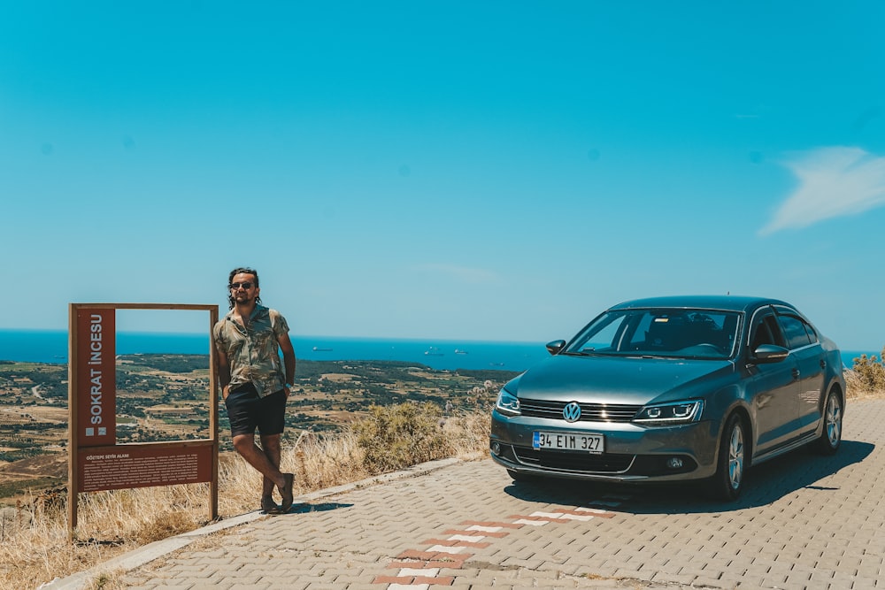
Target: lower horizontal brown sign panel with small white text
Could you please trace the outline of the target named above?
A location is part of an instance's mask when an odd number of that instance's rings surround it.
[[[85,448],[77,471],[81,492],[204,483],[212,481],[212,445]]]

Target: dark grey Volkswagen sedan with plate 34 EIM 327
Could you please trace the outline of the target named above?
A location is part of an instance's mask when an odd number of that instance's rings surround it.
[[[731,501],[751,464],[842,441],[839,349],[789,303],[620,303],[547,349],[492,411],[491,456],[513,479],[693,480]]]

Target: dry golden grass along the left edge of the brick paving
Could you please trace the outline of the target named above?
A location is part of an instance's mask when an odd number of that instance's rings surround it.
[[[407,404],[403,404],[406,406]],[[396,407],[388,410],[396,413]],[[383,410],[382,410],[383,413]],[[435,418],[434,418],[435,419]],[[470,456],[485,450],[488,412],[447,417],[435,428],[456,444],[443,456]],[[366,448],[353,431],[319,437],[301,436],[283,448],[282,471],[296,474],[296,495],[366,479],[377,470],[366,464]],[[234,517],[258,510],[261,477],[242,458],[224,455],[219,461],[219,515]],[[142,487],[82,494],[75,540],[69,540],[67,495],[64,490],[34,494],[17,510],[0,517],[0,589],[35,588],[55,578],[87,570],[155,540],[208,524],[208,484]],[[125,587],[121,572],[106,572],[91,588]]]

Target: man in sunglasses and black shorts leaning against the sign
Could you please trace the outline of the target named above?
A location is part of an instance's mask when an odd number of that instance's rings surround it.
[[[292,507],[294,475],[280,471],[280,435],[295,379],[289,325],[277,310],[261,305],[258,272],[235,268],[227,281],[230,311],[212,329],[219,356],[219,384],[230,418],[234,448],[262,476],[261,510]],[[282,351],[282,364],[280,354]],[[261,447],[255,443],[258,429]],[[280,490],[282,505],[273,501]]]

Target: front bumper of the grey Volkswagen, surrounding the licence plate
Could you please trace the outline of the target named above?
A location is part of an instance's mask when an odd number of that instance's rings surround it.
[[[598,433],[605,452],[532,448],[535,431]],[[718,425],[710,421],[650,427],[633,423],[567,424],[492,412],[489,450],[508,470],[526,475],[610,482],[704,479],[716,472]],[[675,459],[675,460],[674,460]]]

